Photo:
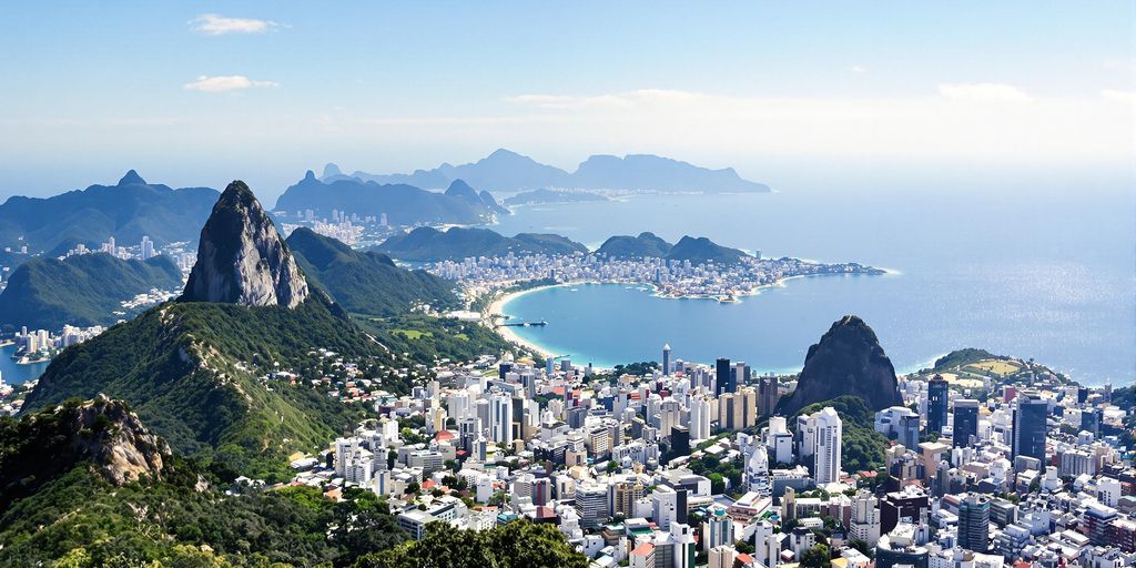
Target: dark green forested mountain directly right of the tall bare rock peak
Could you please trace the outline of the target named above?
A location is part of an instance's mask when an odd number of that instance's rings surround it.
[[[389,317],[407,314],[417,303],[459,304],[452,283],[425,270],[399,268],[385,254],[357,251],[307,227],[293,231],[286,243],[308,278],[350,312]]]

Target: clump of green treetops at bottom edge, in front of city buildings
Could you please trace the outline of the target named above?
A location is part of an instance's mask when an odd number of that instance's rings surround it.
[[[563,534],[548,524],[526,520],[490,531],[452,531],[433,524],[421,541],[359,558],[354,568],[585,568]]]

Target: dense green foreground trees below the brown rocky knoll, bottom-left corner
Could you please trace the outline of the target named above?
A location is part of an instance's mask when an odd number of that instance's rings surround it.
[[[318,488],[201,490],[192,462],[162,481],[110,484],[78,465],[0,516],[0,565],[345,566],[402,542],[386,504]]]

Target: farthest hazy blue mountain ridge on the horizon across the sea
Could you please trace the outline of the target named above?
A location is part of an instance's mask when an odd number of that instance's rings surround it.
[[[702,192],[768,192],[769,186],[743,179],[734,168],[709,169],[653,154],[592,156],[568,173],[541,164],[527,156],[498,149],[481,160],[461,166],[442,164],[411,174],[345,175],[334,164],[324,167],[324,182],[359,179],[381,184],[408,184],[442,189],[454,179],[465,179],[490,191],[524,191],[548,187],[579,190],[653,190]]]

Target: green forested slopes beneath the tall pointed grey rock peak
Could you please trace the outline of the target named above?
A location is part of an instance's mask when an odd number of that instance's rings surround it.
[[[106,393],[128,402],[177,450],[216,459],[244,475],[279,479],[285,457],[323,448],[366,409],[344,404],[311,384],[328,349],[367,364],[383,387],[407,392],[392,368],[412,367],[309,299],[294,310],[225,303],[170,302],[60,353],[26,408]],[[292,370],[302,381],[265,381]]]

